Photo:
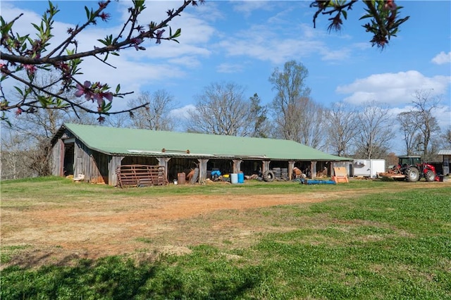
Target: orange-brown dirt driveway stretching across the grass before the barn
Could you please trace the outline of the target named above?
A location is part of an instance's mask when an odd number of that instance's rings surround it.
[[[418,182],[414,188],[443,186]],[[308,204],[339,199],[362,191],[249,196],[146,196],[68,204],[43,204],[32,209],[3,208],[1,246],[23,246],[9,264],[66,264],[78,258],[136,254],[187,253],[196,244],[252,243],[252,235],[285,230],[259,223],[248,208]],[[381,192],[365,189],[366,194]],[[16,252],[13,252],[15,254]],[[4,265],[6,266],[6,265]],[[3,266],[3,267],[4,267]]]

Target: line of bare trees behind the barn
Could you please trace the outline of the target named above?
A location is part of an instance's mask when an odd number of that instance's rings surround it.
[[[388,106],[377,99],[358,106],[343,101],[328,107],[316,103],[305,83],[307,77],[307,68],[297,61],[286,62],[281,70],[275,68],[268,77],[274,97],[266,104],[257,92],[249,96],[236,82],[211,82],[195,96],[194,108],[183,118],[173,114],[178,106],[171,92],[142,92],[128,101],[130,108],[142,107],[130,114],[106,116],[101,125],[289,139],[358,159],[386,158],[397,146],[401,154],[437,161],[435,154],[451,141],[451,128],[440,128],[433,115],[440,98],[430,91],[417,91],[409,111],[391,115]],[[41,80],[42,85],[52,81]],[[2,178],[49,175],[50,140],[58,128],[63,123],[99,125],[94,115],[77,108],[43,108],[10,120],[13,126],[2,124]]]

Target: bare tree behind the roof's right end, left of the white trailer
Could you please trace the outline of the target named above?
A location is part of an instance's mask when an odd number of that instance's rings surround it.
[[[359,130],[357,112],[345,102],[336,102],[327,113],[328,144],[338,156],[351,154],[352,140]]]

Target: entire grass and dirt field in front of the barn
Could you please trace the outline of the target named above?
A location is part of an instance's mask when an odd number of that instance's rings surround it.
[[[55,177],[1,182],[0,296],[451,299],[451,185],[417,183],[116,189]],[[146,211],[149,206],[152,211]],[[187,213],[190,206],[202,214]],[[161,218],[174,207],[183,207],[180,215]],[[132,223],[137,221],[125,218],[129,215],[143,219]],[[148,230],[155,225],[142,223],[149,215],[162,230]],[[70,244],[62,236],[78,239],[69,229],[80,220],[108,237],[95,239],[93,232],[92,247],[106,249],[121,238],[116,244],[133,250],[75,255],[83,241]],[[130,228],[123,235],[108,233],[105,224],[113,227],[113,220]],[[56,227],[57,221],[67,228]],[[45,246],[37,242],[42,232],[49,237]],[[187,251],[155,251],[170,244]],[[49,249],[66,251],[71,259],[51,263],[44,259]],[[39,256],[24,263],[33,253]]]

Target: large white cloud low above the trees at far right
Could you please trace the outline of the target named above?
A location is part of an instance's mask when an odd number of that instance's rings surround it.
[[[450,86],[451,77],[437,75],[426,77],[416,70],[399,73],[374,74],[357,79],[350,85],[337,87],[338,94],[350,94],[345,101],[352,104],[362,104],[366,101],[381,103],[408,104],[417,90],[432,90],[431,96],[445,94]]]

